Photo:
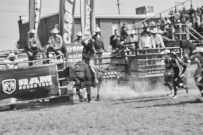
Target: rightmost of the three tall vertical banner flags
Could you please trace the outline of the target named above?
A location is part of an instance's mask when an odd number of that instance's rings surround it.
[[[90,37],[95,28],[94,0],[80,0],[81,31],[83,38]]]

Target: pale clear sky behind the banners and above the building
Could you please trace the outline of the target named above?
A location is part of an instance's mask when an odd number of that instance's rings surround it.
[[[42,0],[42,16],[57,13],[60,0]],[[118,14],[117,0],[95,0],[96,14]],[[135,14],[135,8],[141,6],[154,6],[154,12],[160,13],[175,6],[177,2],[185,0],[120,0],[122,14]],[[28,17],[29,0],[0,0],[0,51],[15,49],[19,39],[19,16]],[[80,0],[76,0],[76,14],[79,14]],[[203,0],[192,0],[194,8],[201,7]],[[185,6],[189,6],[188,2]]]

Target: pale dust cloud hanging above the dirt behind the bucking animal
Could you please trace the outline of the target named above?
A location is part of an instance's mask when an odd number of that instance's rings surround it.
[[[102,99],[120,100],[132,99],[149,92],[159,92],[166,90],[163,86],[163,81],[160,80],[136,80],[130,79],[128,81],[104,80],[102,82],[100,95]]]

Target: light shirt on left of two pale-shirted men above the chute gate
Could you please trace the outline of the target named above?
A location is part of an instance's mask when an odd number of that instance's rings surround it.
[[[155,44],[152,42],[151,38],[147,36],[142,36],[138,43],[140,49],[142,48],[155,48]]]

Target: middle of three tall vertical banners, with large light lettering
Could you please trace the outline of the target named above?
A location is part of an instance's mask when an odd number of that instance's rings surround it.
[[[74,38],[75,0],[60,0],[59,27],[64,44],[69,44]]]

